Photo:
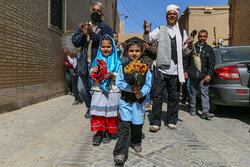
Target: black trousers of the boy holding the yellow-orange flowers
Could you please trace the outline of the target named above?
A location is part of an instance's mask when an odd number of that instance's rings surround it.
[[[142,142],[142,125],[134,125],[128,121],[119,120],[118,139],[113,151],[113,155],[124,154],[128,159],[128,149],[130,146],[140,146]]]

